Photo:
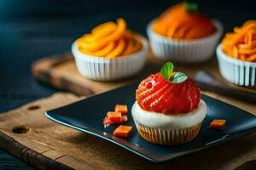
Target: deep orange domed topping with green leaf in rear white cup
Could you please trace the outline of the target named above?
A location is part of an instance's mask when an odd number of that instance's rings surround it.
[[[153,30],[164,36],[182,40],[207,37],[216,31],[212,20],[197,9],[196,3],[178,3],[168,8],[153,23]]]

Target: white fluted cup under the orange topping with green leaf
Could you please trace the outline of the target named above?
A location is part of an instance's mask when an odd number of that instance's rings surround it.
[[[177,40],[163,37],[152,29],[154,20],[147,28],[151,50],[155,57],[179,63],[196,63],[210,59],[223,32],[223,26],[218,20],[213,20],[217,31],[211,36],[195,40]]]

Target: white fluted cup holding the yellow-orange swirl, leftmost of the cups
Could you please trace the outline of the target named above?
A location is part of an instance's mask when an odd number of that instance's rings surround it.
[[[148,52],[148,41],[137,36],[143,43],[143,48],[135,54],[113,59],[83,54],[76,44],[72,45],[72,53],[79,73],[87,78],[99,81],[112,81],[135,75],[143,69]]]

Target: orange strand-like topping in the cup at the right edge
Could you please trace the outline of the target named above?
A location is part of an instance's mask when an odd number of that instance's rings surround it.
[[[234,32],[226,33],[222,49],[232,58],[256,62],[256,20],[248,20],[235,27]]]

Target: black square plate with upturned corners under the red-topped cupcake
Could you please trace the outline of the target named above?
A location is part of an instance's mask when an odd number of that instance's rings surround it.
[[[235,106],[202,95],[201,99],[207,103],[207,117],[202,124],[199,135],[193,141],[176,146],[148,143],[137,133],[131,118],[131,106],[135,102],[137,85],[137,83],[134,83],[122,88],[116,88],[107,93],[98,94],[71,105],[47,111],[45,115],[55,122],[96,135],[113,144],[118,144],[126,150],[130,150],[138,156],[155,162],[168,161],[177,156],[204,150],[212,145],[239,138],[256,130],[256,116]],[[129,121],[125,124],[134,128],[127,139],[113,136],[113,130],[117,126],[110,126],[105,129],[102,125],[106,112],[113,111],[116,104],[126,104],[130,110]],[[218,131],[207,128],[214,118],[224,118],[226,120],[227,124],[223,130]]]

